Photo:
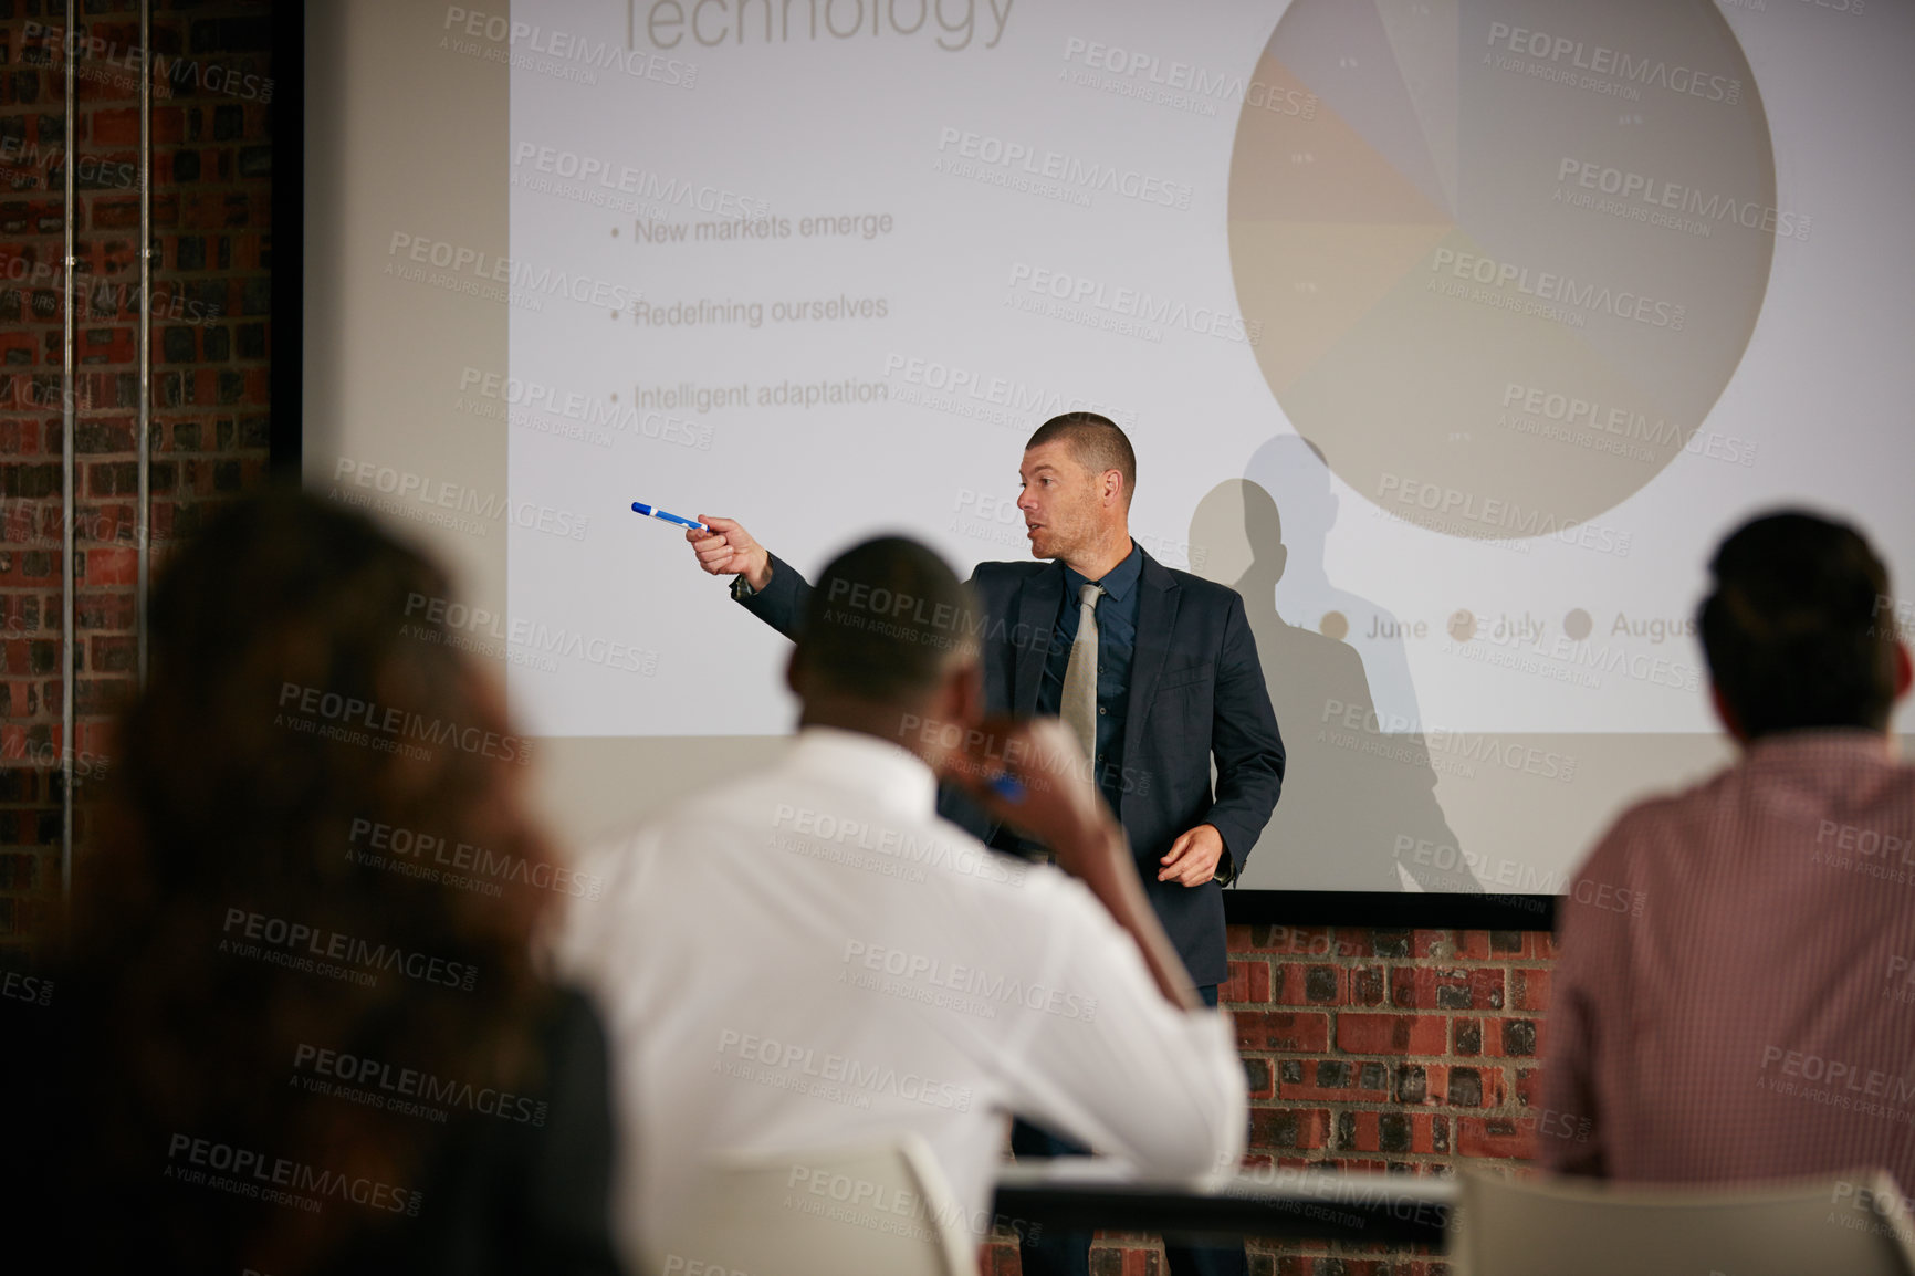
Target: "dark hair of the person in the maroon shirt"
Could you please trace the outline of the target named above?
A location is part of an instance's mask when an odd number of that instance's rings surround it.
[[[1745,736],[1886,728],[1896,694],[1888,569],[1854,527],[1769,513],[1724,540],[1708,569],[1702,649]]]

